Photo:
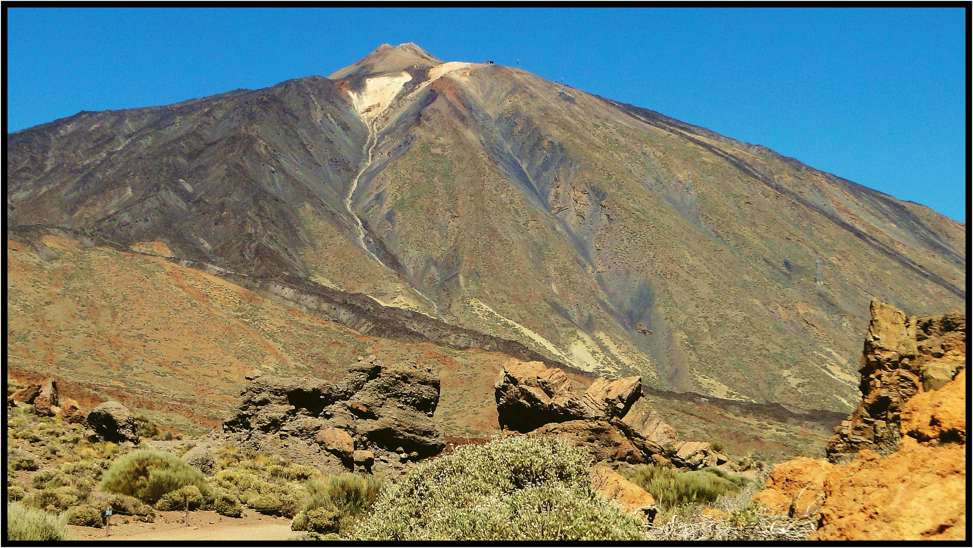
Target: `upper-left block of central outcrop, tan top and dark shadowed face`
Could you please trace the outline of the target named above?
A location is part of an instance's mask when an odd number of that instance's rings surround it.
[[[511,361],[494,386],[500,428],[528,432],[549,423],[595,419],[564,371],[540,361]]]

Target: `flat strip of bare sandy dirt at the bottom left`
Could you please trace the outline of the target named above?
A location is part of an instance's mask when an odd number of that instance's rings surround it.
[[[227,518],[216,512],[190,512],[189,524],[183,512],[159,512],[155,523],[147,524],[114,516],[109,535],[104,529],[68,526],[76,540],[285,540],[301,534],[291,531],[291,520],[263,516],[252,510],[243,518]],[[128,520],[128,523],[125,523]]]

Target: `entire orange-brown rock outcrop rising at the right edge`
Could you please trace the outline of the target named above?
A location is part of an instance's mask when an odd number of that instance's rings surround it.
[[[877,301],[872,317],[862,360],[865,396],[848,421],[855,428],[846,425],[828,446],[829,459],[839,463],[798,458],[779,464],[755,498],[776,511],[811,517],[818,526],[811,539],[964,539],[965,319],[954,313],[906,320]],[[942,375],[951,380],[939,384]],[[888,407],[875,407],[880,402]],[[885,421],[882,429],[875,427],[879,421]],[[896,450],[887,452],[892,439]],[[848,460],[851,449],[858,451]]]

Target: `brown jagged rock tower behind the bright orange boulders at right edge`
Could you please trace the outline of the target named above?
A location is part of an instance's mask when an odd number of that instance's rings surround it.
[[[828,442],[831,462],[849,462],[862,449],[888,455],[898,449],[901,413],[910,398],[952,381],[966,363],[966,316],[907,317],[873,300],[862,352],[862,400]]]

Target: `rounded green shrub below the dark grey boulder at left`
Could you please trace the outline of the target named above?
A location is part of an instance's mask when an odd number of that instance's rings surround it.
[[[129,495],[150,504],[187,485],[195,485],[203,495],[209,494],[202,472],[175,455],[152,450],[139,450],[122,457],[101,480],[103,491]]]

